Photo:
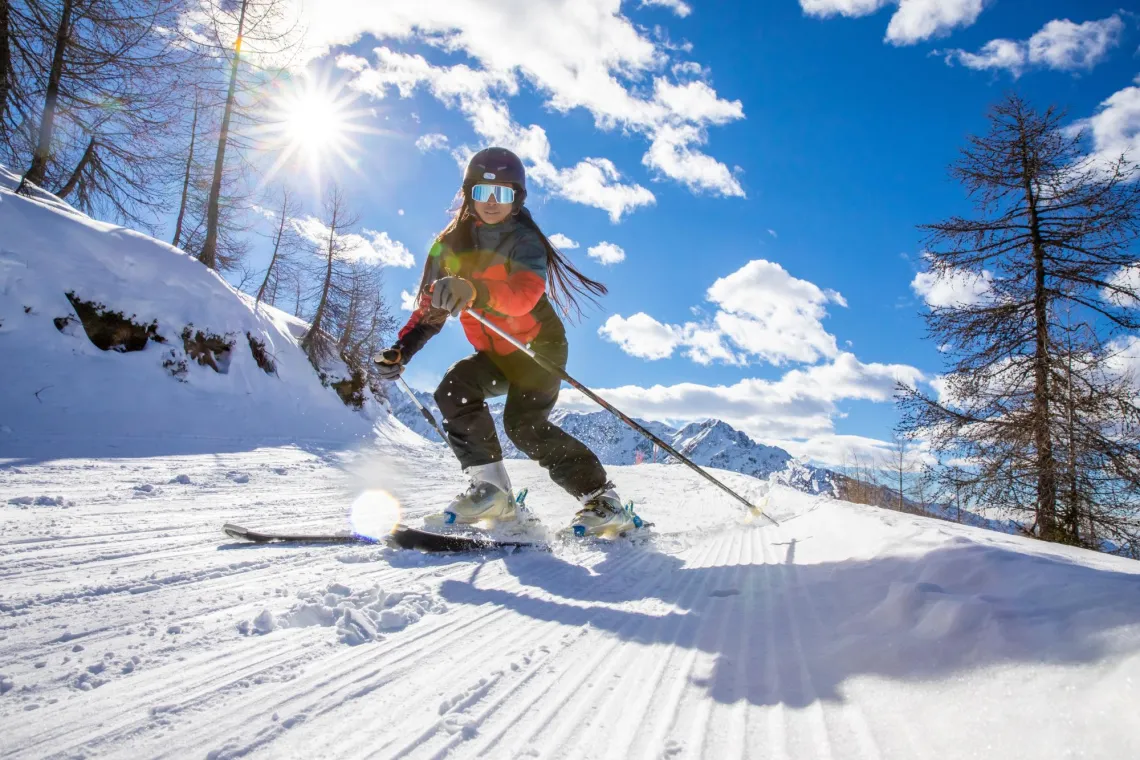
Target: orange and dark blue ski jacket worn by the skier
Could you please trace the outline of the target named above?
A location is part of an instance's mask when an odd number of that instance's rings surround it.
[[[523,209],[520,215],[529,212]],[[432,309],[431,286],[457,276],[475,288],[472,310],[523,344],[565,342],[565,328],[546,297],[546,247],[528,223],[511,216],[498,224],[465,221],[432,245],[412,318],[396,348],[406,363],[443,327],[446,310]],[[478,319],[462,314],[463,332],[477,351],[506,356],[518,351]]]

